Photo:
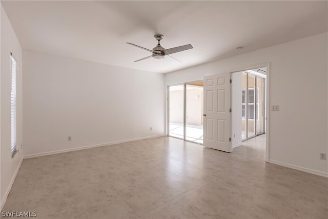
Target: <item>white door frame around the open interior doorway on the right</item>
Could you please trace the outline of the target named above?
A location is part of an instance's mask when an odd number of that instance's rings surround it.
[[[256,69],[256,68],[263,68],[267,67],[267,78],[265,79],[265,162],[269,163],[270,158],[270,145],[269,145],[269,139],[270,139],[270,63],[262,63],[257,65],[251,65],[246,66],[242,68],[233,69],[230,71],[230,73],[240,72],[240,71],[247,71],[250,69]],[[232,82],[233,83],[233,82]],[[232,98],[232,95],[231,95]],[[231,124],[232,129],[232,124]]]

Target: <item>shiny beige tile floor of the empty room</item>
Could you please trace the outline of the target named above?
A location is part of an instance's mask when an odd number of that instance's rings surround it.
[[[3,211],[37,218],[328,218],[327,178],[159,137],[24,160]]]

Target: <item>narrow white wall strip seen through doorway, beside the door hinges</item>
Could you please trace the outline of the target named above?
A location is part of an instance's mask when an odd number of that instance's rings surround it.
[[[241,145],[241,72],[232,74],[232,82],[231,144],[235,148]]]

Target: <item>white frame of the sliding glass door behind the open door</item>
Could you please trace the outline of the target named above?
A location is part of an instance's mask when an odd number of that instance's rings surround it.
[[[166,120],[167,134],[166,135],[167,136],[174,137],[174,138],[186,141],[186,142],[192,142],[192,143],[195,143],[195,144],[203,145],[202,143],[193,142],[193,141],[190,141],[190,140],[186,139],[186,110],[187,110],[187,108],[186,108],[186,105],[187,105],[187,103],[186,103],[186,95],[187,95],[186,85],[190,84],[190,83],[203,82],[203,81],[204,81],[203,79],[199,79],[199,80],[195,80],[195,81],[182,82],[182,83],[177,83],[177,84],[170,84],[170,85],[166,86],[166,89],[167,89],[167,120]],[[182,138],[175,137],[175,136],[170,136],[170,87],[177,86],[177,85],[183,85],[183,137]]]

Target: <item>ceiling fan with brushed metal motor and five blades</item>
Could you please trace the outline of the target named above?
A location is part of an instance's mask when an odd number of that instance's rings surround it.
[[[141,46],[138,46],[138,45],[135,45],[135,44],[132,44],[132,43],[127,43],[127,44],[130,44],[132,46],[135,46],[135,47],[138,47],[140,49],[144,49],[144,50],[147,50],[147,51],[153,53],[150,56],[147,56],[145,58],[138,59],[138,60],[136,60],[134,62],[139,62],[139,61],[145,60],[147,58],[151,58],[151,57],[154,57],[156,59],[162,59],[165,56],[169,56],[169,57],[173,58],[170,54],[173,54],[173,53],[176,53],[176,52],[181,52],[181,51],[185,51],[185,50],[194,48],[191,44],[187,44],[185,46],[178,46],[178,47],[173,47],[173,48],[170,48],[170,49],[165,49],[165,48],[163,48],[160,45],[160,41],[163,39],[164,36],[161,35],[161,34],[156,34],[156,35],[154,35],[154,37],[156,38],[156,41],[158,41],[158,44],[157,44],[156,47],[153,48],[153,50],[146,49],[144,47],[141,47]],[[175,61],[181,63],[178,59],[176,59],[176,58],[173,58],[173,59]]]

